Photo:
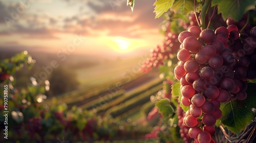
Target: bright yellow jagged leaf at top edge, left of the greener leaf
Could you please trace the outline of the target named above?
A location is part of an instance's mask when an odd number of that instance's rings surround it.
[[[164,12],[169,10],[173,6],[175,0],[158,0],[154,3],[154,12],[156,13],[155,18],[159,18]]]

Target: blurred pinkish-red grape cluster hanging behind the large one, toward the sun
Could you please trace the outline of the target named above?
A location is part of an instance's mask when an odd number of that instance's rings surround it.
[[[150,58],[143,61],[141,71],[147,73],[153,67],[163,65],[165,59],[169,59],[170,55],[176,54],[179,50],[180,43],[178,41],[178,34],[169,30],[170,23],[166,26],[165,38],[162,45],[157,45],[155,49],[151,49]]]

